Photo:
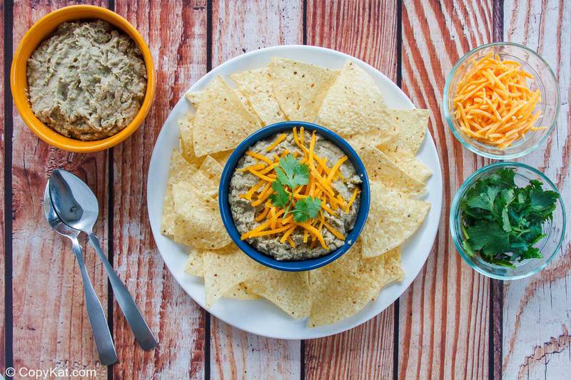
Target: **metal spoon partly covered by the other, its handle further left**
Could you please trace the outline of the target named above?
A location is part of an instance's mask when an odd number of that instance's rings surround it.
[[[89,316],[89,323],[91,323],[91,330],[94,332],[99,359],[101,359],[103,366],[113,364],[117,361],[117,352],[115,351],[115,345],[113,344],[111,332],[107,325],[105,312],[103,312],[101,302],[99,302],[94,286],[89,279],[89,274],[87,274],[84,256],[81,252],[81,245],[79,245],[77,240],[79,231],[74,230],[59,219],[54,211],[54,207],[51,205],[49,183],[46,184],[46,190],[44,190],[44,214],[46,215],[50,227],[56,230],[59,235],[69,237],[73,244],[74,255],[76,255],[77,264],[81,270],[81,278],[84,280],[85,305],[87,315]]]

